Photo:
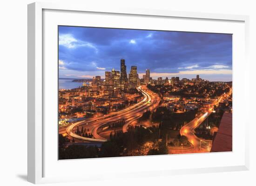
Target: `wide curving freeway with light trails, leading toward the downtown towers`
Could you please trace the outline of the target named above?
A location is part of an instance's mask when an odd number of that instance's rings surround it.
[[[105,115],[103,117],[93,118],[87,121],[73,123],[67,127],[66,129],[67,135],[79,140],[84,140],[84,141],[104,142],[104,141],[107,141],[107,139],[97,134],[98,128],[107,124],[108,122],[113,122],[113,121],[122,120],[122,119],[125,119],[126,121],[126,124],[124,125],[125,127],[123,127],[123,131],[126,132],[127,131],[126,128],[131,122],[141,117],[143,112],[147,111],[148,109],[151,109],[151,110],[155,109],[160,102],[160,98],[156,96],[153,92],[148,90],[146,86],[143,86],[143,87],[140,86],[138,87],[138,90],[141,91],[141,93],[144,96],[141,102],[136,103],[135,105],[128,107],[126,109],[122,109],[120,111]],[[89,129],[93,134],[94,138],[82,137],[80,135],[75,134],[74,129],[76,127],[81,127],[81,126],[84,126],[85,128]],[[61,132],[63,132],[63,128],[61,129]]]

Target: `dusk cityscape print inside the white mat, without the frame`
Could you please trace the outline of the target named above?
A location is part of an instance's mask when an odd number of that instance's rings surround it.
[[[232,151],[232,35],[59,26],[58,52],[59,160]]]

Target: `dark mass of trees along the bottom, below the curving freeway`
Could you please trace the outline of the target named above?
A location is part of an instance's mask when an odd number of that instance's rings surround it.
[[[79,158],[96,158],[96,157],[118,157],[129,156],[132,152],[138,151],[146,142],[153,142],[154,149],[148,152],[149,155],[167,154],[165,139],[155,147],[159,139],[159,127],[144,128],[142,126],[129,127],[128,132],[115,132],[110,134],[110,140],[102,143],[101,148],[85,145],[69,145],[65,147],[66,138],[59,136],[59,159],[79,159]]]

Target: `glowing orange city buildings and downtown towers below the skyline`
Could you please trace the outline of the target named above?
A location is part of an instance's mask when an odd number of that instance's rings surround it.
[[[191,80],[180,80],[179,77],[153,79],[150,77],[149,69],[143,78],[139,78],[137,66],[131,66],[130,73],[127,74],[124,59],[121,59],[121,71],[114,68],[112,71],[105,71],[105,79],[95,76],[92,80],[76,81],[83,82],[83,86],[59,90],[59,123],[70,122],[70,118],[101,116],[135,104],[142,99],[142,95],[138,94],[135,88],[143,84],[152,85],[156,91],[163,90],[163,101],[160,106],[167,107],[173,112],[206,110],[215,100],[213,96],[216,91],[229,87],[227,83],[203,80],[199,75]],[[175,92],[182,92],[182,95],[174,95]],[[232,104],[232,100],[228,98],[225,104]]]

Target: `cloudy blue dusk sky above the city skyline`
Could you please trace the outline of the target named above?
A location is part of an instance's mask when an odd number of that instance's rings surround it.
[[[104,78],[121,58],[140,77],[231,81],[232,35],[59,26],[59,77]]]

